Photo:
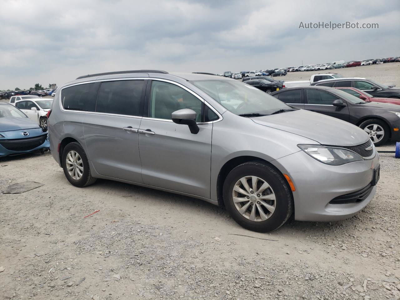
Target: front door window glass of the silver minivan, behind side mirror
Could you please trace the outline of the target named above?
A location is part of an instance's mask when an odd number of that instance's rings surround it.
[[[183,108],[196,112],[196,122],[201,122],[203,102],[188,91],[162,81],[153,81],[150,92],[149,117],[171,120],[171,114]]]

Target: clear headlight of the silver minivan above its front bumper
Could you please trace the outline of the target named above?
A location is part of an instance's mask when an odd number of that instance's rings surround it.
[[[332,166],[339,166],[342,164],[347,164],[348,162],[358,162],[360,160],[364,160],[358,154],[342,148],[325,147],[322,145],[297,146],[312,158]]]

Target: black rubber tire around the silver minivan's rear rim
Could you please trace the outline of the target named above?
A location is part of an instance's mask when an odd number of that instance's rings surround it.
[[[71,150],[76,151],[82,159],[83,174],[79,180],[75,180],[74,178],[72,178],[72,176],[68,173],[68,170],[66,167],[66,157]],[[90,172],[89,162],[88,162],[88,158],[86,156],[85,150],[83,150],[82,146],[79,143],[72,142],[72,143],[66,145],[62,151],[61,159],[62,159],[62,168],[64,170],[65,177],[68,179],[68,181],[73,186],[77,186],[78,188],[83,188],[84,186],[93,184],[96,181],[97,178],[92,177],[92,174]]]

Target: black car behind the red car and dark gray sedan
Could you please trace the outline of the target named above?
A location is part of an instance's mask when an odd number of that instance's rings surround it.
[[[312,86],[329,86],[331,88],[358,88],[374,97],[400,99],[400,89],[385,86],[365,78],[336,78],[313,82]]]

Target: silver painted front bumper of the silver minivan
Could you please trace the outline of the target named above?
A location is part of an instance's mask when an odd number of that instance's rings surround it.
[[[288,174],[296,188],[293,192],[294,218],[299,221],[328,222],[354,216],[374,198],[376,186],[358,203],[330,204],[331,200],[362,190],[374,177],[379,156],[372,160],[329,166],[315,160],[303,151],[272,162]]]

